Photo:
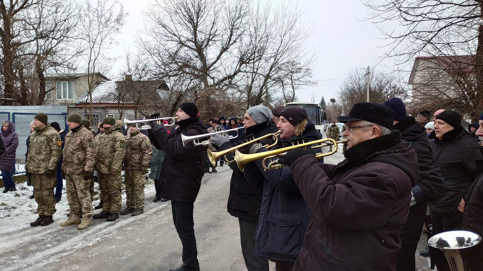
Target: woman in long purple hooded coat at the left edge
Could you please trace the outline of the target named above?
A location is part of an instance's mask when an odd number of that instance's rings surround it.
[[[18,147],[18,135],[14,130],[15,124],[13,122],[5,121],[2,123],[1,138],[5,152],[1,154],[0,170],[3,179],[3,193],[16,190],[12,169],[15,163],[15,151]]]

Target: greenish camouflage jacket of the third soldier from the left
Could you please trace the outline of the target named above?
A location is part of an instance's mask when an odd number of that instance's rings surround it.
[[[104,129],[104,133],[99,136],[96,142],[97,165],[99,173],[111,173],[111,171],[121,174],[122,161],[126,155],[126,138],[122,133],[121,127],[114,125]]]

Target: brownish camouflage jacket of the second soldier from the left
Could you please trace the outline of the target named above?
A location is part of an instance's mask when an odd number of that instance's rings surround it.
[[[62,151],[62,171],[66,174],[93,172],[96,162],[96,142],[94,136],[85,128],[65,136]]]

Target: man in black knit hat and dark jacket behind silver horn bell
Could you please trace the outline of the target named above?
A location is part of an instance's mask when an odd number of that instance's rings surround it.
[[[437,201],[429,202],[433,215],[433,233],[460,230],[463,225],[465,195],[474,181],[476,159],[481,159],[480,146],[461,126],[460,115],[452,110],[438,114],[434,131],[429,134],[436,164],[444,178],[444,190]],[[431,259],[439,271],[450,270],[446,257],[437,248],[429,248]]]

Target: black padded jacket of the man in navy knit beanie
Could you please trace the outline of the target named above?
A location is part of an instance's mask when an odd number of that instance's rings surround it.
[[[417,244],[423,229],[427,202],[437,200],[443,192],[443,178],[440,168],[434,163],[425,128],[414,117],[408,117],[406,121],[394,125],[394,129],[401,132],[402,139],[412,145],[418,156],[420,178],[412,188],[417,203],[409,208],[408,222],[401,231],[402,244]]]

